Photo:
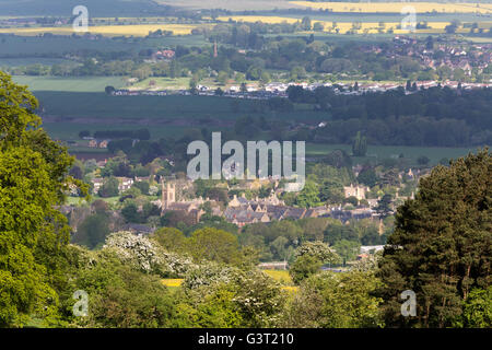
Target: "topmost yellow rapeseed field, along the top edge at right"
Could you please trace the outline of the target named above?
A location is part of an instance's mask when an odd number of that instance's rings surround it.
[[[492,13],[491,3],[438,3],[438,2],[309,2],[292,1],[292,3],[313,8],[329,9],[333,12],[360,13],[399,13],[403,7],[415,8],[417,13]]]

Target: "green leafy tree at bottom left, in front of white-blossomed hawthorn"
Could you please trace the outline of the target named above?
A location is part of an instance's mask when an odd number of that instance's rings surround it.
[[[87,316],[73,317],[74,325],[95,328],[175,325],[176,300],[157,276],[134,270],[107,250],[96,255],[95,261],[91,267],[82,265],[70,288],[90,295]]]

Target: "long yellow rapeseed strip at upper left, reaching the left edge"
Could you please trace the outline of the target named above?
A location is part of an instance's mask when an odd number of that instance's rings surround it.
[[[99,26],[90,26],[89,32],[92,34],[102,34],[105,36],[131,36],[131,35],[147,36],[149,35],[149,32],[162,30],[162,31],[172,31],[174,35],[187,35],[191,34],[191,31],[199,26],[203,26],[203,24],[99,25]],[[71,35],[75,32],[71,26],[66,26],[66,27],[0,28],[0,33],[13,33],[17,35],[35,36],[43,33]]]

